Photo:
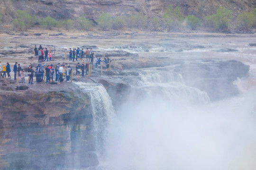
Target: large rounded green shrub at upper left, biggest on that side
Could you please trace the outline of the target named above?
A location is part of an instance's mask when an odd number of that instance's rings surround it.
[[[34,26],[37,23],[37,17],[35,15],[31,16],[29,12],[29,10],[15,11],[16,18],[12,21],[13,26],[19,30],[27,30]]]

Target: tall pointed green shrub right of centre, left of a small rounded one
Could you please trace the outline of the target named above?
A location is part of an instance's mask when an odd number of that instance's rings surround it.
[[[184,19],[181,8],[174,8],[173,5],[170,5],[168,9],[166,9],[164,14],[164,19],[167,24],[167,30],[170,31],[175,27],[179,27],[182,24]]]

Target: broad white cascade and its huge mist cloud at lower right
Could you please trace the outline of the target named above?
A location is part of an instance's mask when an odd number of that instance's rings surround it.
[[[106,160],[97,170],[256,167],[250,151],[256,151],[255,92],[210,102],[205,92],[184,85],[181,78],[166,79],[161,71],[140,76],[135,94],[111,120]],[[163,93],[156,95],[155,89]],[[141,96],[143,90],[148,93]]]

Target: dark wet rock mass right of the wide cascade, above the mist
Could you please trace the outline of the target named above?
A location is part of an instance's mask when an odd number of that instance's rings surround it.
[[[249,66],[236,60],[207,60],[205,63],[189,61],[174,71],[182,74],[187,85],[207,92],[210,99],[215,101],[238,94],[233,81],[246,76]]]

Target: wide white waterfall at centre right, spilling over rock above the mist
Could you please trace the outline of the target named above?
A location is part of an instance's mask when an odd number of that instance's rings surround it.
[[[146,71],[139,74],[141,82],[139,83],[140,91],[155,96],[157,93],[166,97],[172,102],[176,99],[183,99],[183,102],[192,104],[209,103],[210,97],[206,92],[190,87],[184,84],[181,74],[173,71]],[[155,93],[154,93],[155,92]]]

